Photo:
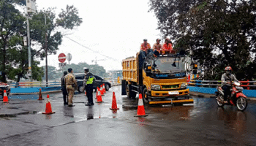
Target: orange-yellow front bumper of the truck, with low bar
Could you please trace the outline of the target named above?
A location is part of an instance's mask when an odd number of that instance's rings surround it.
[[[169,91],[151,91],[148,104],[193,104],[189,89],[179,90],[178,95],[169,95]]]

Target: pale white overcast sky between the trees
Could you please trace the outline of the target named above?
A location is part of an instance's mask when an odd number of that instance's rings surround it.
[[[59,68],[59,53],[71,53],[70,64],[94,64],[91,61],[97,58],[104,60],[97,61],[97,64],[106,70],[121,69],[121,60],[135,56],[143,39],[148,39],[152,47],[155,40],[161,38],[157,30],[157,18],[153,12],[148,12],[148,1],[37,0],[37,9],[56,7],[58,14],[67,4],[74,5],[83,23],[67,37],[91,49],[64,37],[57,54],[48,56],[48,65]],[[45,60],[41,61],[40,66],[45,66]]]

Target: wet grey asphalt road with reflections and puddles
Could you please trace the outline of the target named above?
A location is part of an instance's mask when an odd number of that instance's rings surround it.
[[[117,111],[109,110],[113,91]],[[104,103],[86,107],[80,93],[75,107],[67,107],[61,93],[50,93],[53,115],[42,115],[45,101],[37,95],[10,96],[9,104],[0,105],[0,114],[13,113],[0,116],[0,145],[256,145],[256,101],[239,112],[194,97],[193,105],[145,106],[148,116],[135,118],[138,98],[120,95],[121,86],[110,88]]]

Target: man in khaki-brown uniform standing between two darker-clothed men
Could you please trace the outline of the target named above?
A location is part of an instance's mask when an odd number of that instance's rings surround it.
[[[69,74],[67,74],[65,76],[65,82],[66,82],[66,87],[67,87],[67,93],[68,93],[68,106],[69,107],[75,107],[75,105],[73,105],[73,96],[74,96],[74,92],[75,92],[75,87],[78,87],[77,82],[75,81],[75,77],[73,76],[73,70],[71,68],[67,69],[67,71],[69,72]]]

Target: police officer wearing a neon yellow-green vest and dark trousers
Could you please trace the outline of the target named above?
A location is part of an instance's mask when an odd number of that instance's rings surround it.
[[[88,103],[86,104],[86,106],[90,106],[90,105],[94,105],[94,101],[92,98],[92,93],[94,90],[94,82],[95,82],[95,78],[94,75],[91,74],[91,72],[89,72],[88,68],[83,68],[84,72],[86,73],[85,76],[85,82],[86,82],[86,95],[88,97]]]

